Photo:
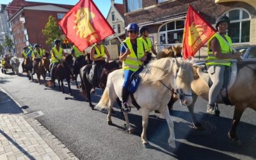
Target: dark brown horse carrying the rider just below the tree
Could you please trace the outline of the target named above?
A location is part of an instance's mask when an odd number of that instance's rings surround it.
[[[61,89],[62,93],[64,93],[64,86],[63,86],[63,79],[66,79],[68,83],[68,90],[70,95],[71,93],[71,88],[70,88],[70,78],[73,78],[72,74],[72,67],[73,67],[73,60],[72,60],[72,55],[68,54],[63,58],[60,64],[54,66],[54,69],[52,71],[52,81],[54,88],[56,87],[55,84],[55,79],[58,79],[58,84],[59,88]],[[61,81],[61,87],[60,87],[60,81]]]

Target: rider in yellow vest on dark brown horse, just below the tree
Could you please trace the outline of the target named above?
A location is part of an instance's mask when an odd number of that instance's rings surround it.
[[[53,42],[54,47],[52,47],[51,50],[51,79],[53,75],[53,68],[54,66],[58,65],[60,63],[60,61],[62,60],[62,56],[64,56],[64,52],[63,49],[60,47],[61,45],[61,40],[54,40]]]

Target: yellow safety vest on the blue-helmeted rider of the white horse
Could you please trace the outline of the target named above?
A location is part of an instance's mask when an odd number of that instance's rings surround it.
[[[135,52],[132,49],[132,43],[130,38],[126,38],[124,40],[124,43],[127,44],[128,49],[131,51],[131,54],[129,54],[127,56],[127,58],[125,58],[124,62],[123,62],[123,70],[132,70],[133,72],[136,72],[140,66],[142,66],[142,61],[141,58],[144,56],[144,48],[143,48],[143,42],[137,38],[137,56],[135,54]]]

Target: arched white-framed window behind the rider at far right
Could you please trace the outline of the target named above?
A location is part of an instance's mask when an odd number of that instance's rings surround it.
[[[250,15],[241,8],[230,10],[225,13],[230,19],[228,36],[233,43],[250,42]]]

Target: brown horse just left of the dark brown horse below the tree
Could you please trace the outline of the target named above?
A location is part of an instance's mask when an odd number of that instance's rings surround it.
[[[41,84],[40,81],[40,76],[42,76],[44,78],[44,84],[46,85],[46,81],[45,81],[45,77],[46,77],[46,71],[47,71],[47,67],[49,68],[50,65],[50,60],[48,60],[47,58],[43,57],[39,63],[38,63],[38,69],[35,70],[36,72],[36,76],[37,76],[37,81],[39,84]]]

